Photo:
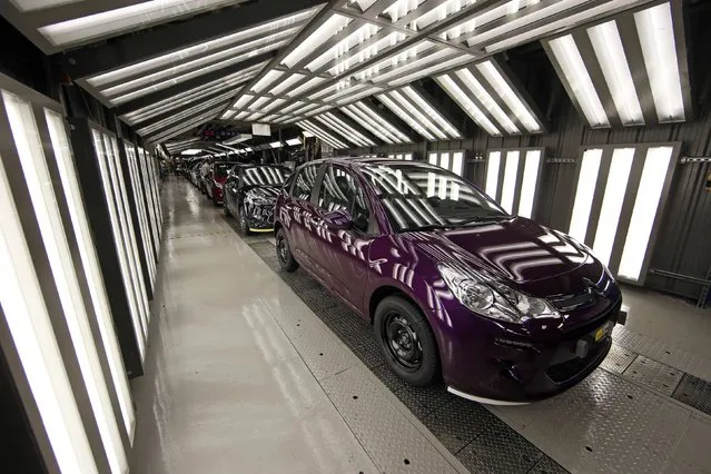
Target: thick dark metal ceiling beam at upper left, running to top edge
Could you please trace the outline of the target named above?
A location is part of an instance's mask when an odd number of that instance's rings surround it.
[[[102,46],[83,47],[61,56],[55,55],[53,58],[63,72],[72,78],[83,78],[288,17],[322,3],[319,0],[248,3],[225,9],[219,14],[199,14],[134,36],[113,38]]]

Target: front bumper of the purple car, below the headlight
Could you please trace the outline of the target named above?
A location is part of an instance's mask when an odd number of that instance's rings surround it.
[[[614,325],[625,320],[620,305],[570,329],[543,326],[547,334],[535,337],[467,314],[470,327],[458,325],[457,333],[468,337],[457,334],[441,349],[445,382],[452,393],[482,403],[529,403],[564,392],[604,361]]]

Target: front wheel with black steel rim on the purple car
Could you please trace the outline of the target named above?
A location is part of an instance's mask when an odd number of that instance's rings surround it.
[[[388,296],[375,309],[373,330],[391,369],[407,384],[432,385],[440,378],[440,350],[419,308],[402,296]]]

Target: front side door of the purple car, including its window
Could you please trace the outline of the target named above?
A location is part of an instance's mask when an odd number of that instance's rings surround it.
[[[324,216],[347,210],[353,217],[350,229],[329,227]],[[326,274],[332,289],[361,309],[368,275],[368,250],[376,235],[371,205],[361,181],[337,165],[324,170],[314,213],[313,255]]]

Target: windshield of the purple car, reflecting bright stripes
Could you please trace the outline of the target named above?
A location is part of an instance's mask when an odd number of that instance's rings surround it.
[[[383,164],[363,171],[396,231],[470,226],[508,217],[488,196],[442,168]]]

